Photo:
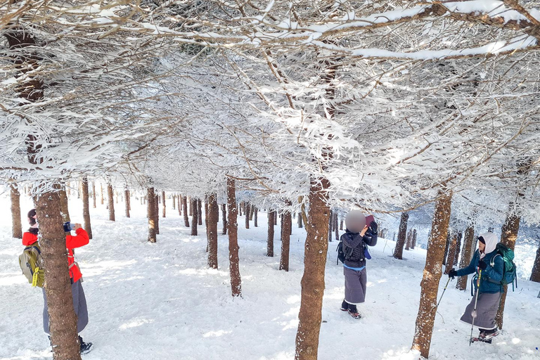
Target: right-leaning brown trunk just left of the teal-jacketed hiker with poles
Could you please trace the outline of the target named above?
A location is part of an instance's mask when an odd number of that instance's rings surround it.
[[[420,306],[416,316],[416,330],[413,339],[413,350],[419,350],[420,355],[428,359],[430,354],[433,323],[437,311],[437,293],[442,275],[442,259],[444,244],[448,235],[450,211],[452,205],[451,193],[439,191],[435,202],[435,214],[431,226],[431,236],[428,240],[428,252],[425,259],[424,275],[420,287]]]

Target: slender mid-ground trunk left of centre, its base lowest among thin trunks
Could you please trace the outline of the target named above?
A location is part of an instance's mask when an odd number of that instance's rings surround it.
[[[234,179],[227,178],[227,206],[229,207],[229,273],[231,275],[231,291],[233,297],[242,296],[242,280],[238,259],[238,224],[236,208],[236,185]],[[224,216],[225,218],[225,216]]]

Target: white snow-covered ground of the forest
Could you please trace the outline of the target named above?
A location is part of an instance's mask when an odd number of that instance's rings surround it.
[[[90,322],[82,332],[94,350],[85,360],[285,360],[294,358],[304,229],[293,225],[290,271],[278,271],[276,257],[266,257],[266,217],[244,229],[238,220],[243,298],[233,299],[229,283],[228,244],[219,236],[219,269],[207,269],[205,229],[189,229],[167,204],[160,218],[158,243],[146,241],[146,208],[132,199],[131,218],[116,204],[116,222],[104,205],[91,209],[94,239],[77,251],[84,275]],[[32,208],[22,202],[23,217]],[[82,203],[70,200],[72,221],[82,222]],[[20,240],[11,238],[9,200],[0,195],[0,359],[51,359],[43,333],[41,290],[20,274]],[[26,223],[23,223],[25,226]],[[219,224],[221,230],[221,224]],[[219,231],[221,233],[221,231]],[[319,359],[418,359],[410,352],[415,328],[425,250],[390,257],[394,242],[380,239],[368,262],[366,303],[354,320],[340,311],[342,267],[330,243]],[[520,264],[532,266],[534,252],[517,249]],[[530,273],[529,273],[530,274]],[[446,277],[440,288],[444,288]],[[470,326],[459,321],[470,292],[452,281],[439,306],[430,359],[540,359],[540,284],[519,280],[506,302],[504,331],[492,345],[469,346]],[[439,291],[439,295],[441,293]],[[475,333],[477,331],[475,330]]]

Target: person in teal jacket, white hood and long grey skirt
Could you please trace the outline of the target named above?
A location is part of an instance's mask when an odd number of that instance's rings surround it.
[[[491,339],[499,335],[499,328],[495,323],[495,316],[499,310],[501,294],[503,293],[504,260],[496,251],[499,243],[494,233],[482,233],[478,236],[478,249],[473,255],[470,264],[463,269],[451,269],[448,276],[465,276],[475,273],[473,278],[475,296],[465,308],[461,321],[473,324],[480,330],[477,340],[491,343]],[[476,292],[478,294],[476,295]],[[475,311],[475,301],[476,311]]]

